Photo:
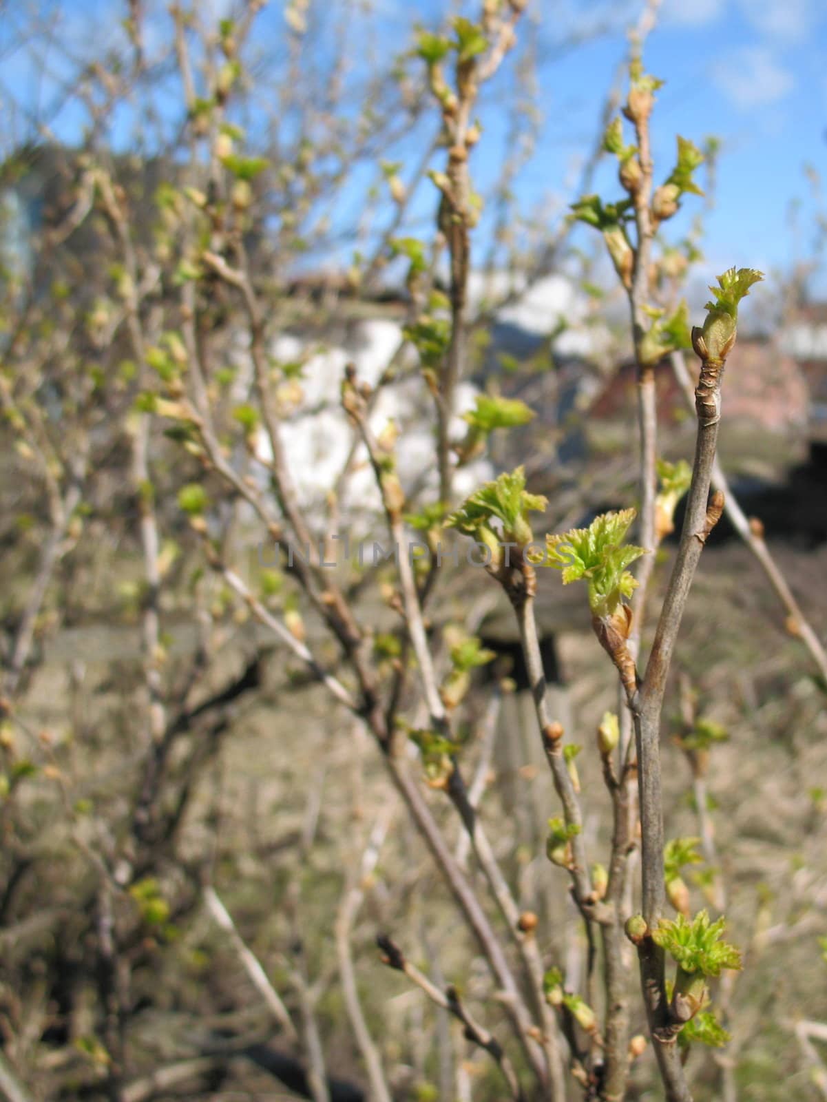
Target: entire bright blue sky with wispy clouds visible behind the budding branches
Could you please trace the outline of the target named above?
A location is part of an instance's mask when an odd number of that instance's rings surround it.
[[[341,14],[348,0],[313,0],[317,13]],[[286,35],[285,0],[271,0],[260,17],[260,43],[271,48]],[[156,41],[163,43],[163,7],[144,0],[144,10],[159,12]],[[200,2],[203,14],[209,4]],[[216,0],[216,18],[232,9],[231,0]],[[351,0],[352,8],[360,6]],[[400,52],[411,42],[417,20],[436,25],[440,18],[461,8],[472,13],[477,4],[451,4],[446,0],[376,0],[370,15],[379,50]],[[22,9],[21,9],[22,10]],[[57,31],[52,64],[61,43],[76,52],[96,51],[112,36],[126,12],[124,0],[35,0],[30,12],[40,13]],[[313,10],[313,8],[311,9]],[[559,217],[576,196],[576,171],[594,141],[600,104],[618,63],[627,54],[624,28],[636,17],[636,0],[533,0],[533,19],[521,26],[522,44],[529,39],[541,58],[537,104],[542,126],[536,151],[516,185],[521,209],[542,207],[549,218]],[[11,13],[11,22],[10,22]],[[13,8],[0,7],[0,50],[9,39]],[[603,26],[585,44],[559,53],[574,28]],[[361,24],[353,17],[353,28]],[[160,28],[160,31],[159,31]],[[90,33],[93,32],[94,33]],[[168,33],[168,29],[167,32]],[[168,42],[168,39],[166,40]],[[353,33],[359,43],[359,34]],[[487,89],[480,107],[487,133],[475,153],[472,170],[485,190],[500,170],[509,120],[500,104],[514,79],[512,57],[503,73]],[[700,143],[715,134],[722,149],[717,173],[716,206],[706,215],[707,270],[730,263],[761,267],[768,272],[787,271],[796,248],[806,253],[814,237],[817,202],[805,176],[812,165],[827,176],[827,0],[664,0],[655,30],[649,37],[644,63],[649,72],[664,77],[653,118],[653,151],[657,175],[666,176],[674,156],[676,133]],[[509,72],[508,65],[511,71]],[[39,63],[22,52],[3,58],[0,80],[23,100],[54,94]],[[76,136],[79,114],[64,110],[56,129],[62,137]],[[403,159],[415,150],[402,150]],[[352,209],[363,206],[357,194],[367,175],[358,177],[348,196]],[[415,205],[429,217],[433,188],[425,184]],[[619,197],[614,170],[602,165],[597,186],[605,197]],[[791,201],[802,201],[797,241],[790,223]],[[681,236],[703,201],[688,198],[686,213],[670,223],[670,233]],[[345,215],[342,215],[345,217]],[[485,235],[485,226],[482,227]]]

